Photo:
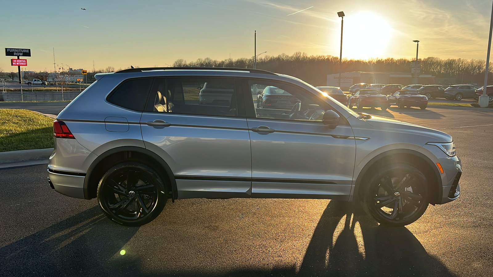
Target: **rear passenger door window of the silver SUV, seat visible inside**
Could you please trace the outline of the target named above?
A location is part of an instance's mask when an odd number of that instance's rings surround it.
[[[237,116],[235,80],[220,78],[158,78],[146,111]]]

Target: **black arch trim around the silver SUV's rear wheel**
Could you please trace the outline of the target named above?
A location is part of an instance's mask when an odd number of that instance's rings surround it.
[[[86,177],[84,179],[84,198],[85,199],[87,199],[87,200],[92,199],[90,197],[90,192],[89,192],[89,189],[90,189],[89,180],[91,179],[91,174],[96,169],[96,166],[106,157],[108,157],[112,154],[115,154],[115,153],[119,153],[119,152],[139,152],[139,153],[148,155],[148,156],[152,157],[153,159],[155,159],[159,163],[159,165],[161,165],[161,167],[166,171],[166,174],[168,174],[168,179],[170,181],[172,193],[173,193],[173,198],[172,198],[173,201],[175,201],[177,199],[178,194],[177,194],[175,175],[173,174],[173,171],[171,170],[170,166],[161,157],[159,157],[159,155],[157,155],[156,153],[154,153],[148,149],[138,147],[138,146],[120,146],[120,147],[116,147],[116,148],[107,150],[106,152],[99,155],[92,162],[92,164],[89,166],[89,169],[87,170],[87,173],[86,173]]]

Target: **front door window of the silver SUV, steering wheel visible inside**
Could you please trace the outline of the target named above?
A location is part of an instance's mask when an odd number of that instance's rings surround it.
[[[266,80],[248,81],[250,88],[261,85],[267,86],[269,94],[253,99],[257,118],[321,122],[325,111],[331,108],[315,95],[295,86]]]

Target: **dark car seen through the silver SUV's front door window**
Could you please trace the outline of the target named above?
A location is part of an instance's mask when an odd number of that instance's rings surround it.
[[[292,109],[299,100],[287,91],[274,87],[265,87],[257,96],[257,108]]]

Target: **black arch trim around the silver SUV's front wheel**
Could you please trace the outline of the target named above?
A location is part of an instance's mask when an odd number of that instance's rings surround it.
[[[374,165],[375,163],[379,162],[380,160],[386,158],[386,157],[393,156],[393,155],[399,155],[399,154],[414,155],[414,156],[417,156],[418,158],[421,158],[424,161],[426,161],[426,163],[430,166],[430,168],[432,169],[433,173],[435,173],[435,176],[437,178],[437,184],[435,184],[435,186],[437,186],[436,187],[437,188],[437,197],[433,201],[432,204],[441,202],[442,196],[443,196],[442,195],[443,194],[442,178],[440,176],[440,172],[438,171],[437,166],[428,157],[426,157],[424,154],[422,154],[418,151],[415,151],[415,150],[411,150],[411,149],[392,149],[392,150],[388,150],[386,152],[380,153],[377,156],[373,157],[363,167],[363,169],[359,172],[358,177],[356,178],[356,182],[354,184],[354,191],[353,191],[353,201],[355,201],[355,199],[354,199],[355,197],[359,198],[359,187],[361,186],[362,178],[368,172],[368,170],[371,168],[371,166]]]

